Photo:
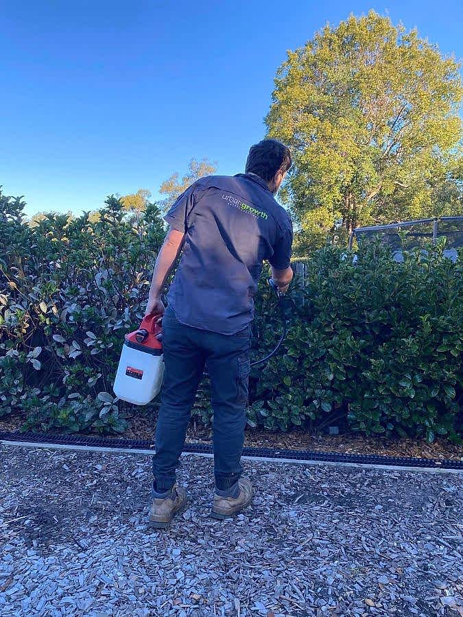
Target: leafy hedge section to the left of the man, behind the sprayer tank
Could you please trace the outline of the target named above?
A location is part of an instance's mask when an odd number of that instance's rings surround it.
[[[125,332],[143,316],[165,232],[155,206],[130,216],[106,199],[97,215],[31,225],[0,193],[0,416],[24,429],[123,432],[112,383]]]

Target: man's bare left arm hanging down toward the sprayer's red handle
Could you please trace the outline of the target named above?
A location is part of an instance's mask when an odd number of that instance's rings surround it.
[[[184,238],[185,234],[176,229],[170,228],[167,232],[167,236],[156,258],[156,264],[154,265],[150,295],[148,296],[145,315],[164,314],[165,306],[161,300],[161,293],[167,276],[169,276],[169,272],[182,250]]]

